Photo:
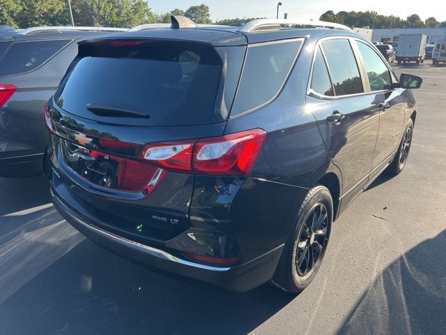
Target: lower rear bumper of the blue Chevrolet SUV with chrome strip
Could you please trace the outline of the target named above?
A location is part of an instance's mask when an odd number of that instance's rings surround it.
[[[282,254],[283,245],[254,260],[232,267],[213,267],[191,262],[171,255],[167,251],[140,244],[98,228],[87,216],[70,209],[56,193],[53,185],[51,195],[54,207],[66,221],[96,244],[144,265],[212,283],[236,292],[245,292],[269,281]]]

